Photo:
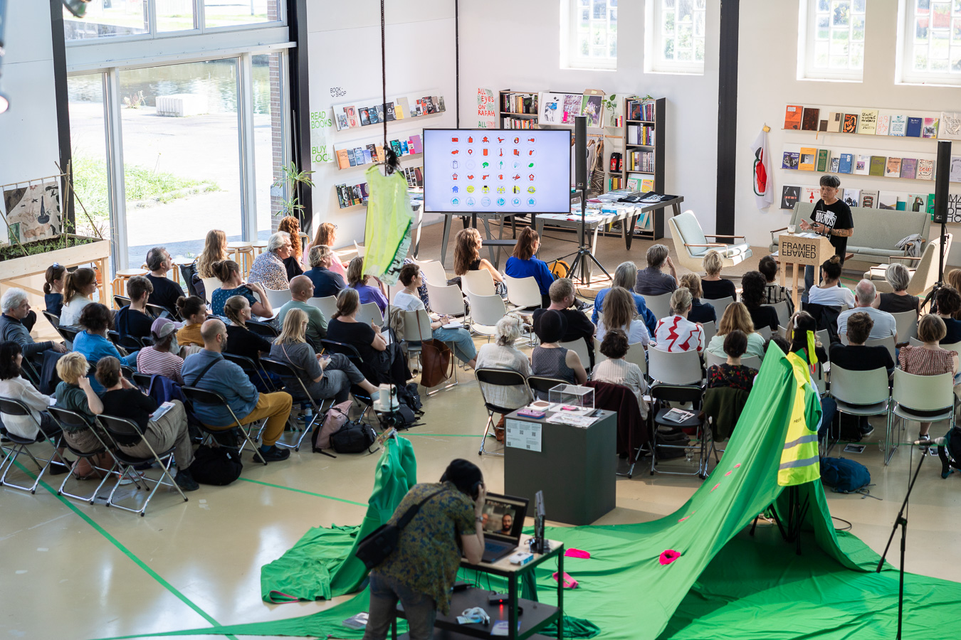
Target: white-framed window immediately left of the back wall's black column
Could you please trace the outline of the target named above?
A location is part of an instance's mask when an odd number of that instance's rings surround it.
[[[645,68],[702,74],[706,20],[706,0],[648,0]]]

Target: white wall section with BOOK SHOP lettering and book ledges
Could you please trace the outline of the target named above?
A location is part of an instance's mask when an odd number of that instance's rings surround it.
[[[447,111],[423,118],[387,123],[388,139],[420,133],[425,127],[455,126],[455,59],[453,0],[391,0],[386,3],[387,100],[396,95],[418,97],[439,90]],[[463,4],[463,3],[462,3]],[[463,24],[463,23],[461,23]],[[360,105],[381,102],[381,9],[376,0],[309,0],[308,46],[310,110],[357,101]],[[334,97],[340,87],[345,95]],[[383,126],[337,131],[330,128],[328,143],[357,141],[357,146],[382,142]],[[363,144],[361,144],[363,143]],[[352,145],[353,146],[353,145]],[[407,166],[423,165],[421,156],[402,158]],[[363,242],[367,209],[338,208],[335,184],[366,181],[370,165],[337,169],[336,162],[314,163],[313,224],[337,225],[337,245]]]

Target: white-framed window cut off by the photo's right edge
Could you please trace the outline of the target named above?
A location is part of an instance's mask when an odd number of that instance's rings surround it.
[[[961,84],[961,1],[902,0],[900,79]]]

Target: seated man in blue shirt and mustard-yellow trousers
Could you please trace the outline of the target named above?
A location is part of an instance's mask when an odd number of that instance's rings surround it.
[[[227,344],[227,326],[221,320],[206,320],[200,328],[204,348],[198,353],[187,356],[181,375],[184,384],[208,391],[216,391],[224,396],[240,424],[250,424],[267,418],[263,429],[263,444],[260,454],[266,462],[277,462],[290,457],[290,451],[277,446],[283,435],[283,427],[290,415],[293,401],[289,393],[259,393],[243,369],[224,360],[221,355]],[[194,403],[194,413],[201,422],[213,430],[228,430],[239,426],[234,418],[221,405]]]

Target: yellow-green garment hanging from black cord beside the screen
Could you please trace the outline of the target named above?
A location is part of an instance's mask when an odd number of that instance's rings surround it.
[[[370,198],[364,229],[363,273],[394,285],[410,249],[413,212],[407,180],[399,171],[384,176],[377,166],[368,169],[365,176]]]

